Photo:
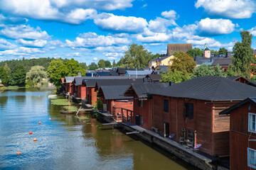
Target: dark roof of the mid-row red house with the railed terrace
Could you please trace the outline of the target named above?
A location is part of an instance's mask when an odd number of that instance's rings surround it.
[[[129,85],[116,85],[116,86],[101,86],[98,92],[98,96],[104,96],[105,100],[128,100],[132,99],[132,96],[124,96],[124,91]]]

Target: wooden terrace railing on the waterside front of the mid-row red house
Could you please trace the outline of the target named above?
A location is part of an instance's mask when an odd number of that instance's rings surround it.
[[[112,115],[114,115],[115,120],[117,122],[132,122],[133,121],[133,111],[127,108],[116,108],[112,107]]]

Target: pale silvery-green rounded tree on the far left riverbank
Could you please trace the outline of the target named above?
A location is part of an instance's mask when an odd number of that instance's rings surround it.
[[[42,79],[47,77],[47,73],[43,66],[33,66],[31,70],[26,73],[26,78],[32,80],[34,83],[39,83]]]

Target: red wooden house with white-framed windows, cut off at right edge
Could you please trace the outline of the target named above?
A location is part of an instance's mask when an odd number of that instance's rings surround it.
[[[230,115],[230,169],[256,169],[256,98],[246,98],[220,115]]]

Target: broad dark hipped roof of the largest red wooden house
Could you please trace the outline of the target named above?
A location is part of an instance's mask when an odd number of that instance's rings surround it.
[[[256,88],[224,77],[207,76],[183,81],[153,94],[205,101],[242,101],[256,96]]]

